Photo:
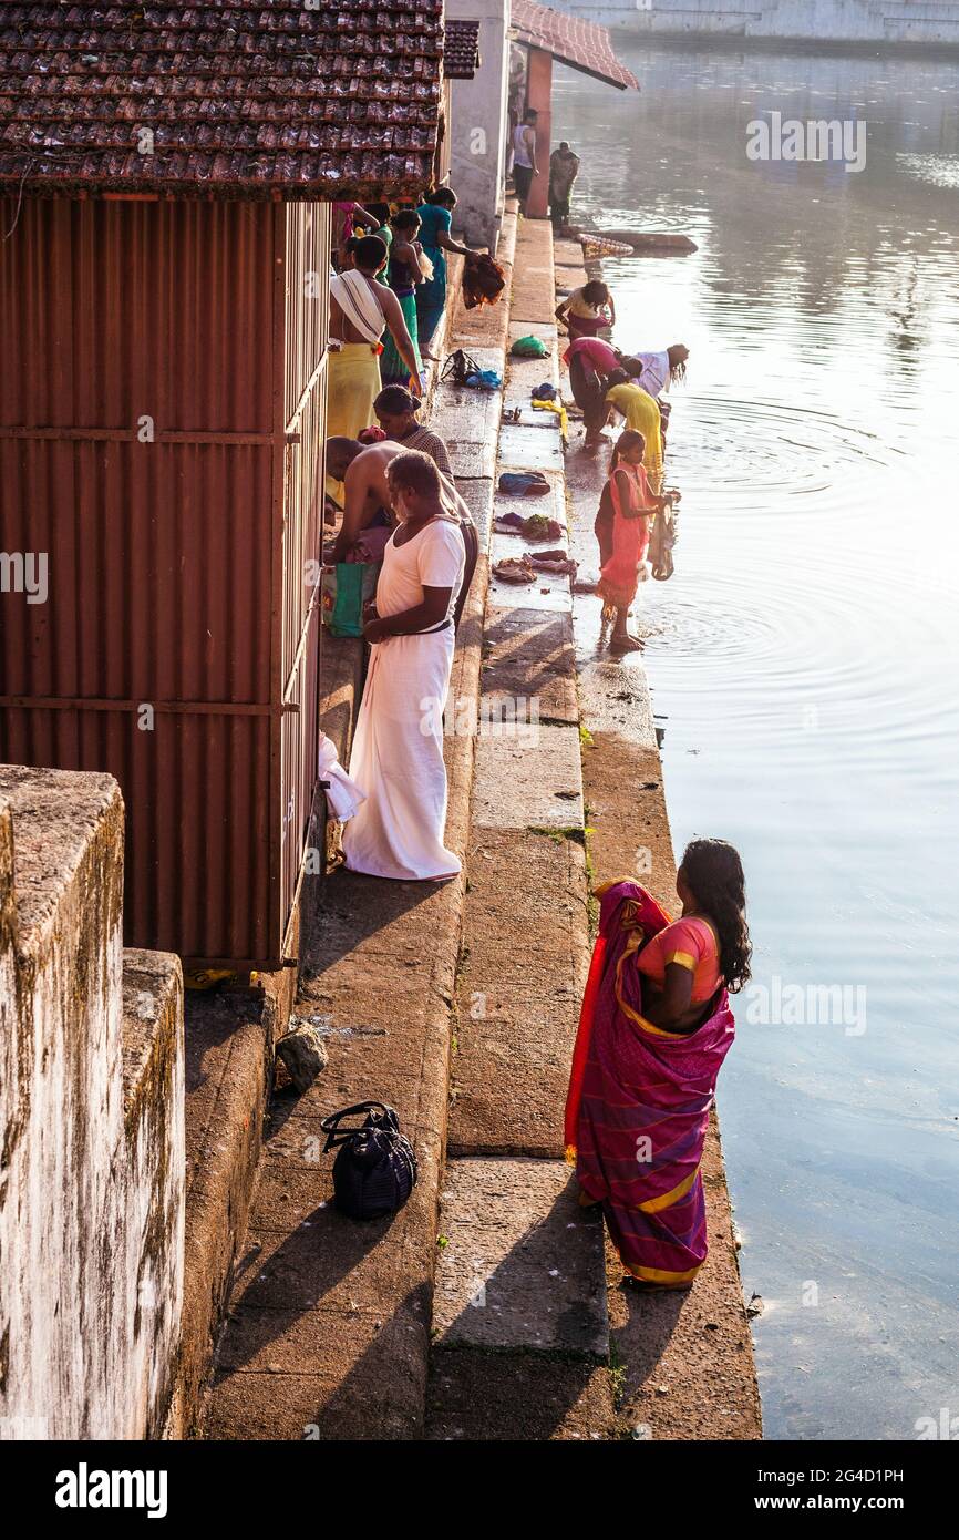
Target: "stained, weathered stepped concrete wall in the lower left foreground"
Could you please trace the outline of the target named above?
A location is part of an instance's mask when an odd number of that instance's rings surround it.
[[[0,767],[0,1437],[159,1431],[179,1344],[177,958],[122,949],[108,775]]]

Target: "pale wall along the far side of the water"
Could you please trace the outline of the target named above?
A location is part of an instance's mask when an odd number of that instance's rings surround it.
[[[554,9],[653,37],[959,48],[959,0],[554,0]]]

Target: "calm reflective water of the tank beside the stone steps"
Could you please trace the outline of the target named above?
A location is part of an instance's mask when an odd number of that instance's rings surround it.
[[[557,71],[553,136],[574,217],[699,246],[603,276],[620,346],[691,348],[642,631],[677,850],[747,867],[719,1106],[767,1437],[916,1438],[959,1417],[959,65],[619,51],[642,95]],[[865,168],[751,162],[774,111],[865,122]]]

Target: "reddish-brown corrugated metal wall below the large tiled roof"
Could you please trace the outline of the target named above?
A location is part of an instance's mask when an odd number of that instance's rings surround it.
[[[25,199],[2,219],[0,551],[46,553],[49,594],[0,594],[0,758],[117,776],[128,942],[276,964],[316,775],[286,396],[325,345],[288,302],[286,229],[319,242],[326,209]]]

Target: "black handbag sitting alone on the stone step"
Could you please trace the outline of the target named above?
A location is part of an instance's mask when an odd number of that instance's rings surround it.
[[[343,1118],[366,1113],[360,1127],[340,1129]],[[417,1178],[413,1144],[400,1133],[400,1120],[382,1101],[359,1101],[320,1123],[323,1155],[337,1149],[332,1163],[332,1201],[351,1220],[382,1220],[403,1207]]]

